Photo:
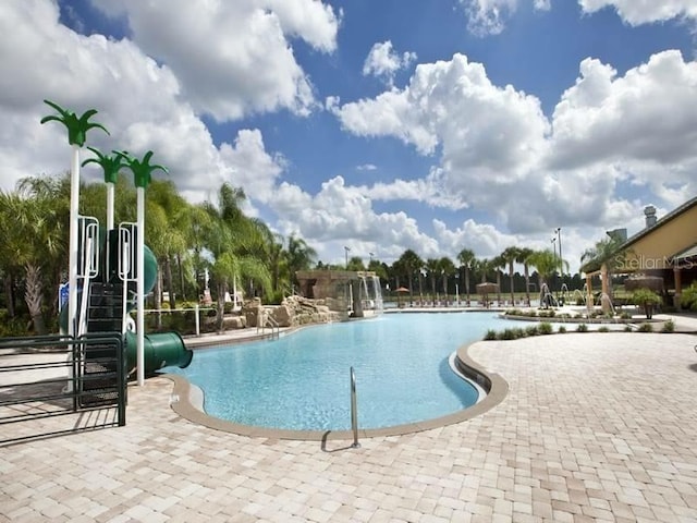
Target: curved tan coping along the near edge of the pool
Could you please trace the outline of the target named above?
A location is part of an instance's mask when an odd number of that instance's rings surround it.
[[[477,381],[477,384],[487,390],[487,396],[484,400],[467,409],[463,409],[462,411],[417,423],[407,423],[384,428],[359,428],[358,437],[379,438],[404,436],[407,434],[441,428],[472,419],[490,411],[501,403],[509,393],[509,384],[502,376],[496,373],[488,373],[470,357],[468,351],[475,343],[480,342],[477,341],[457,349],[456,361],[458,363],[458,367],[465,375]],[[161,377],[173,382],[172,399],[170,401],[171,409],[184,419],[197,425],[236,434],[239,436],[272,440],[288,439],[301,441],[326,441],[353,439],[352,430],[291,430],[243,425],[240,423],[220,419],[218,417],[210,416],[203,411],[203,391],[191,384],[185,377],[178,374],[164,374],[161,375]]]

